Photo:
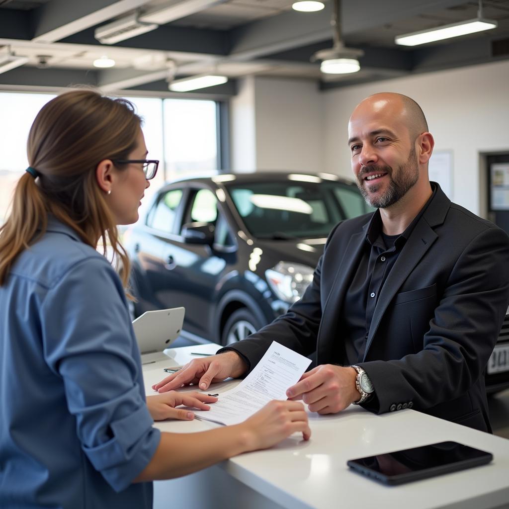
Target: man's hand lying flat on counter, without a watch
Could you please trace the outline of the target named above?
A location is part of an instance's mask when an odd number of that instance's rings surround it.
[[[152,388],[158,392],[178,389],[182,385],[200,384],[200,389],[206,390],[212,382],[221,382],[226,378],[238,378],[247,371],[247,365],[242,357],[234,352],[193,359],[185,364],[181,370],[169,375]]]

